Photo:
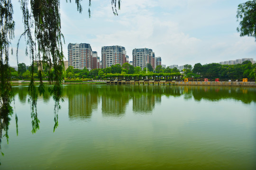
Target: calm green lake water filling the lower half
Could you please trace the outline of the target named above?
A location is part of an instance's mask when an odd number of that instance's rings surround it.
[[[256,88],[64,85],[39,96],[32,134],[27,86],[14,86],[0,170],[256,170]],[[15,113],[18,115],[18,136]]]

